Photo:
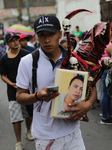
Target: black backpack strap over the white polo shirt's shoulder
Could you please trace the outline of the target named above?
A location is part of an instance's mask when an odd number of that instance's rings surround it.
[[[35,88],[37,85],[37,68],[38,68],[38,59],[39,59],[39,50],[36,49],[32,52],[33,63],[32,63],[32,90],[35,93]]]

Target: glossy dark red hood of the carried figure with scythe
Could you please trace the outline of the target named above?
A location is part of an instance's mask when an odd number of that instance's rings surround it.
[[[101,34],[104,32],[104,35]],[[104,48],[110,41],[110,26],[107,22],[97,23],[84,37],[77,54],[84,60],[98,64]]]

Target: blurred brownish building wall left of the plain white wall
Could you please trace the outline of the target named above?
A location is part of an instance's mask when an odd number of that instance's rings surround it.
[[[16,23],[28,26],[29,15],[33,25],[34,20],[44,14],[56,15],[55,0],[0,0],[0,23],[4,29]]]

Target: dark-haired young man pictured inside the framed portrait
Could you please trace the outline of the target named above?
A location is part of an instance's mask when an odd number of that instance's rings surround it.
[[[84,86],[84,75],[74,74],[74,77],[70,79],[67,93],[60,93],[58,103],[58,115],[69,116],[72,112],[64,112],[69,110],[69,104],[73,104],[76,101],[82,100]]]

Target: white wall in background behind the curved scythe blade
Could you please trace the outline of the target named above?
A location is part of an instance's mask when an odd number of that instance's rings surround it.
[[[63,21],[64,17],[77,9],[88,9],[92,13],[81,12],[71,19],[71,32],[79,25],[80,30],[91,29],[94,24],[100,22],[100,0],[57,0],[57,17]]]

